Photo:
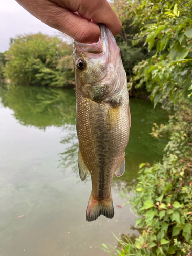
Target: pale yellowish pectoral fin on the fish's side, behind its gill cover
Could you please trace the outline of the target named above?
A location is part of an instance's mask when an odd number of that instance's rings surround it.
[[[108,110],[108,115],[106,117],[106,127],[108,129],[114,129],[115,127],[118,126],[119,112],[120,112],[120,106],[112,102]]]

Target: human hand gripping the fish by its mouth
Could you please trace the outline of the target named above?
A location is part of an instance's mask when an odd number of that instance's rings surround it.
[[[122,24],[106,0],[16,0],[33,16],[79,42],[97,42],[103,23],[114,36]],[[75,12],[78,12],[77,15]],[[92,22],[93,20],[94,22]]]

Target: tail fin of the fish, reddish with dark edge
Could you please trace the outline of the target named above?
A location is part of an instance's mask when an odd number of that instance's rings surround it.
[[[91,195],[86,210],[86,220],[95,221],[101,214],[107,218],[113,218],[114,208],[112,196],[108,199],[103,199],[100,201]]]

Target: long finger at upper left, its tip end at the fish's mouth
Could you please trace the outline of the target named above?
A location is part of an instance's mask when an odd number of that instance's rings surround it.
[[[79,42],[97,42],[99,26],[48,0],[17,0],[33,16]],[[77,1],[76,1],[77,2]]]

